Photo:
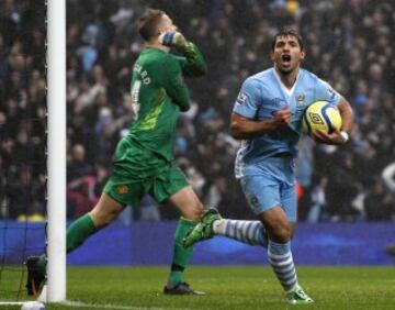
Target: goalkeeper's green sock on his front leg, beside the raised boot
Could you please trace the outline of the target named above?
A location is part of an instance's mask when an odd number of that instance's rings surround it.
[[[183,247],[182,241],[187,232],[196,225],[195,222],[181,218],[174,234],[174,253],[171,263],[171,272],[168,280],[168,287],[174,287],[179,283],[183,283],[183,270],[192,255],[193,246]]]

